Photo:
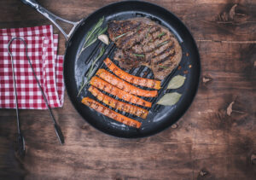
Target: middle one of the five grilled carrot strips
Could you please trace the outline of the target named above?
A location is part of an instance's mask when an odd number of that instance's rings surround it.
[[[144,107],[151,107],[152,103],[147,102],[143,100],[142,98],[139,98],[137,96],[133,96],[129,94],[128,92],[125,92],[124,90],[120,90],[119,88],[113,86],[113,84],[110,84],[106,81],[104,81],[102,78],[93,77],[90,79],[90,84],[97,87],[100,90],[103,90],[105,92],[108,92],[109,94],[112,94],[113,96],[118,96],[119,99],[123,99],[126,102],[131,102],[134,104],[138,104]]]

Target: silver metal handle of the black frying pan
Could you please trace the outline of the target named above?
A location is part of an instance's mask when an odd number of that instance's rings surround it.
[[[79,20],[78,22],[73,22],[70,20],[65,20],[57,15],[52,14],[51,12],[49,12],[47,9],[44,9],[44,7],[42,7],[41,5],[38,4],[38,2],[36,0],[21,0],[21,2],[25,3],[26,5],[31,6],[32,8],[38,10],[39,13],[41,13],[42,15],[44,15],[47,19],[49,19],[50,21],[52,21],[52,23],[55,24],[56,27],[58,27],[58,29],[62,32],[62,34],[65,36],[66,40],[68,40],[68,38],[70,38],[70,36],[73,34],[75,28],[79,25],[79,23],[81,22],[81,20]],[[73,28],[70,30],[70,32],[66,33],[63,28],[57,23],[57,20],[61,20],[63,22],[66,22],[68,24],[73,25]]]

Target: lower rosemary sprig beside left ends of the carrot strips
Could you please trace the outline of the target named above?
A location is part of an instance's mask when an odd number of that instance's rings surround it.
[[[80,95],[80,93],[81,93],[82,90],[84,89],[85,85],[86,85],[86,84],[89,84],[90,78],[92,77],[93,73],[94,73],[95,70],[96,70],[96,67],[95,67],[96,61],[98,61],[98,60],[102,57],[102,55],[104,54],[104,52],[105,52],[105,48],[102,47],[102,48],[100,49],[100,54],[97,55],[97,56],[96,56],[96,59],[91,62],[89,72],[87,73],[86,76],[85,76],[85,74],[84,74],[83,81],[82,81],[82,83],[81,83],[81,87],[80,87],[80,89],[79,89],[78,96]],[[84,79],[85,79],[85,81],[84,81]]]

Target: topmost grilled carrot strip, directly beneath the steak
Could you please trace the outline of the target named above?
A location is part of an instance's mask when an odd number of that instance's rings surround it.
[[[133,76],[130,73],[126,73],[125,71],[121,70],[119,67],[117,67],[113,61],[111,61],[109,58],[104,60],[106,66],[119,78],[124,79],[125,81],[131,83],[131,84],[137,84],[148,88],[153,88],[156,90],[160,90],[161,88],[161,82],[150,79],[150,78],[141,78],[137,76]]]

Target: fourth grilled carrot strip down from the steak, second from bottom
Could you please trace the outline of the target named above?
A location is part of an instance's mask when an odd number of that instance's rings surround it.
[[[138,117],[141,117],[143,119],[146,119],[148,116],[148,111],[146,109],[143,109],[143,108],[137,107],[137,106],[133,106],[133,105],[125,103],[125,102],[119,102],[118,100],[113,99],[110,96],[104,95],[100,90],[98,90],[94,86],[90,86],[89,91],[93,96],[96,96],[96,98],[99,101],[104,102],[105,104],[108,104],[108,106],[116,108],[119,111],[131,113],[131,114],[137,115]]]

